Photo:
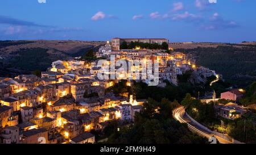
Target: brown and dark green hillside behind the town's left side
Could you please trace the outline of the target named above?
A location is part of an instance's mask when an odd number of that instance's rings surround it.
[[[46,70],[52,61],[97,51],[104,41],[22,40],[0,41],[0,76],[13,77],[33,70]]]

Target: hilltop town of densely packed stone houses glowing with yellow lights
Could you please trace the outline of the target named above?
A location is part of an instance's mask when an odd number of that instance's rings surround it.
[[[142,44],[139,47],[131,45],[133,43]],[[146,47],[148,45],[156,48]],[[166,87],[167,81],[177,86],[177,76],[189,70],[196,83],[206,82],[212,76],[222,78],[214,70],[197,66],[192,55],[174,52],[168,47],[167,39],[114,38],[112,43],[108,41],[100,47],[90,61],[82,57],[57,60],[39,76],[1,77],[0,142],[97,143],[90,131],[102,131],[112,120],[133,123],[146,98],[136,99],[127,92],[114,94],[107,90],[120,80],[97,77],[101,69],[97,61],[104,58],[110,64],[111,55],[116,61],[156,60],[159,63],[158,87]],[[148,84],[147,80],[128,79],[125,85],[132,87],[134,82]]]

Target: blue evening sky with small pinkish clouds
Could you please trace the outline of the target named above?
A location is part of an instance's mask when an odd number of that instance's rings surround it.
[[[1,0],[0,40],[256,40],[256,0]]]

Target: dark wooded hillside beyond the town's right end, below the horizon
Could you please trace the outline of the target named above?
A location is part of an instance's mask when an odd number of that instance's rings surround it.
[[[234,47],[236,45],[236,47]],[[225,80],[244,87],[256,81],[256,47],[255,45],[230,44],[216,48],[176,49],[193,53],[197,63],[216,70]]]

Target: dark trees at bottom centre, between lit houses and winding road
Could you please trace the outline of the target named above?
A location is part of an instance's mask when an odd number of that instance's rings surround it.
[[[113,144],[203,144],[208,140],[189,131],[187,125],[172,118],[172,110],[179,106],[163,98],[161,102],[148,99],[140,113],[135,114],[134,124],[119,127],[115,123],[105,132],[108,143]]]

